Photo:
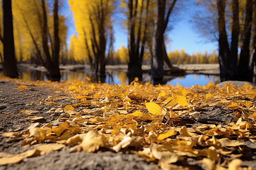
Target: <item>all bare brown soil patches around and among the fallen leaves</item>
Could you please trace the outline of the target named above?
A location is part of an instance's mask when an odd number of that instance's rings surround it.
[[[27,129],[32,123],[28,120],[29,116],[43,116],[39,126],[56,120],[60,115],[47,113],[52,108],[51,105],[41,104],[40,101],[47,99],[48,96],[67,96],[66,94],[56,94],[46,87],[28,86],[35,90],[18,91],[14,88],[20,85],[7,80],[0,80],[0,134],[12,131],[22,131]],[[68,99],[57,100],[57,106],[64,107],[67,104],[75,104],[76,100],[72,97]],[[23,109],[39,111],[27,115],[21,113]],[[205,114],[193,114],[192,118],[184,118],[184,124],[195,125],[199,123],[209,124],[227,124],[228,122],[237,121],[232,116],[232,111],[221,107],[205,106],[201,108],[201,112]],[[182,123],[182,122],[180,122]],[[0,135],[0,150],[9,154],[19,154],[32,148],[32,146],[21,147],[22,141],[19,139],[11,140]],[[246,141],[241,146],[244,153],[240,158],[243,160],[242,166],[253,167],[256,169],[256,143]],[[1,158],[0,152],[0,158]],[[184,160],[183,165],[187,165],[189,169],[205,169],[203,165],[197,164],[196,160]],[[180,165],[180,164],[177,164]],[[143,158],[130,154],[128,151],[111,152],[100,150],[95,153],[85,152],[69,152],[68,147],[64,147],[59,151],[53,151],[48,154],[37,156],[35,158],[26,158],[20,163],[7,164],[0,166],[3,169],[160,169],[158,164],[148,163]]]

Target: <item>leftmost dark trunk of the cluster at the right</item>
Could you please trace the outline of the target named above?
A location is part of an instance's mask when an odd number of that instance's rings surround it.
[[[221,81],[230,79],[230,50],[228,44],[228,37],[226,35],[225,26],[225,1],[217,0],[218,8],[218,50],[219,50],[219,62],[220,62],[220,78]]]

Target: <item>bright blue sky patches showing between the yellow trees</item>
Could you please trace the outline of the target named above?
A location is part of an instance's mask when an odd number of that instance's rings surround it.
[[[69,6],[67,3],[68,0],[65,0],[64,4],[64,15],[68,16],[68,44],[69,38],[76,33],[75,26],[73,25],[74,20],[72,20],[72,12],[68,10]],[[194,1],[195,2],[195,1]],[[217,42],[211,42],[201,37],[200,33],[196,31],[196,28],[193,27],[192,23],[189,22],[191,20],[191,16],[193,15],[192,10],[195,9],[196,6],[192,1],[187,1],[187,5],[189,8],[181,8],[179,11],[178,19],[175,20],[174,29],[167,33],[170,41],[170,45],[166,44],[167,50],[174,51],[175,49],[180,50],[181,48],[188,54],[192,54],[193,52],[204,53],[207,50],[208,53],[211,53],[213,49],[218,49]],[[127,47],[127,31],[121,25],[122,14],[118,14],[119,16],[115,17],[114,22],[114,49],[118,49],[121,45],[125,45]]]

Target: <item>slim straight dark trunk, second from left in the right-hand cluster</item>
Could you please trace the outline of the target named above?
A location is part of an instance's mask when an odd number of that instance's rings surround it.
[[[233,0],[233,24],[232,24],[232,40],[231,40],[231,56],[230,56],[230,70],[231,78],[236,78],[238,74],[238,39],[239,39],[239,3],[238,0]]]

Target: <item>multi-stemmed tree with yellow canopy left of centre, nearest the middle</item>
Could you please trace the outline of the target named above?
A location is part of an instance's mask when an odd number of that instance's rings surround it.
[[[77,36],[71,39],[75,59],[90,63],[96,73],[105,73],[107,59],[113,50],[112,15],[115,1],[68,2],[76,20]]]

